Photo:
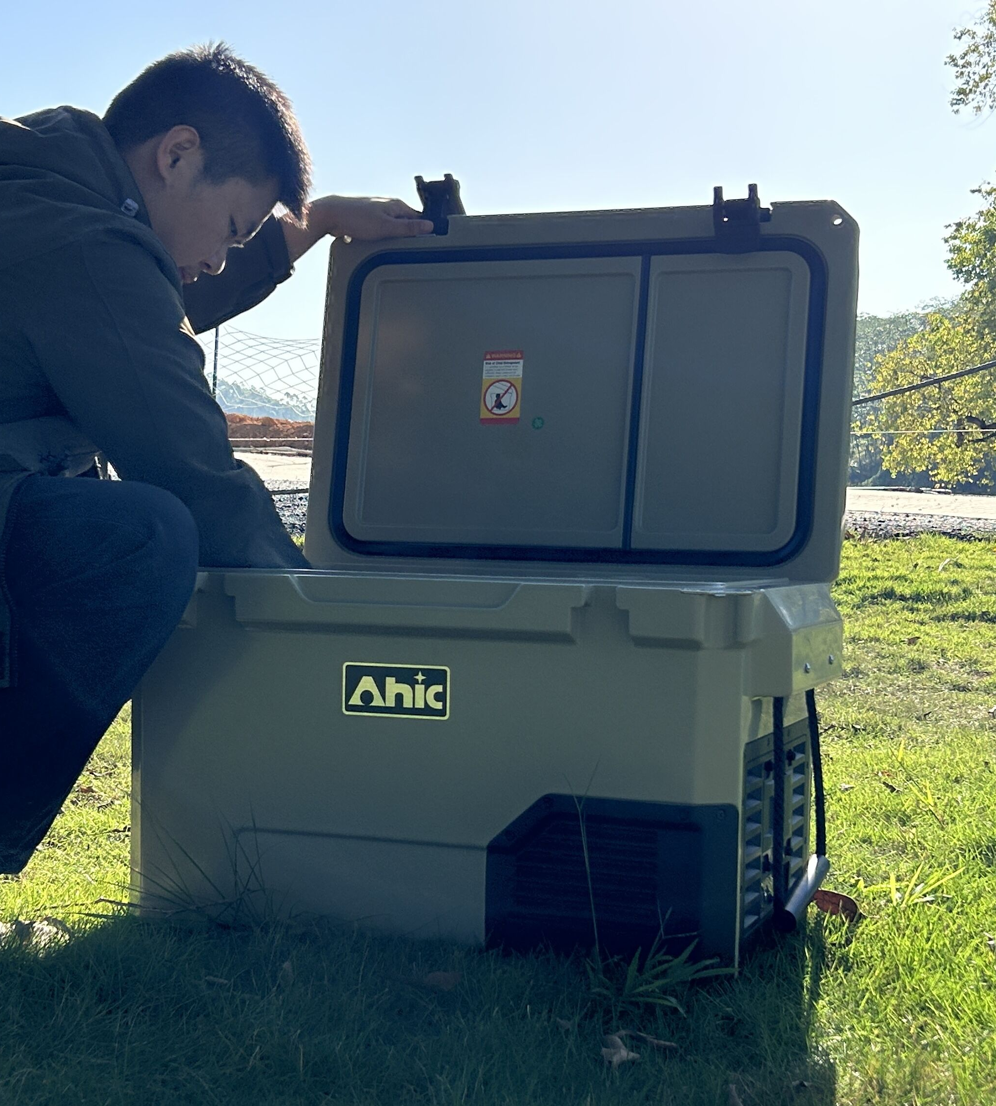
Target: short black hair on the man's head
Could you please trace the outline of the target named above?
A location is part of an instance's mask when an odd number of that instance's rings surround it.
[[[143,70],[111,102],[104,126],[122,153],[172,127],[194,127],[208,180],[276,180],[279,202],[299,222],[304,217],[311,158],[290,101],[224,42],[178,51]]]

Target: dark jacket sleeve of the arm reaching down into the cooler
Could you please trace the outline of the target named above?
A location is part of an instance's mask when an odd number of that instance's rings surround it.
[[[34,259],[17,310],[65,413],[118,474],[165,488],[194,515],[200,563],[308,567],[252,469],[232,457],[180,294],[127,239]]]

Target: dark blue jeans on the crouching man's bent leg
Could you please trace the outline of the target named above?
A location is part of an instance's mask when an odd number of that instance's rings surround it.
[[[159,488],[32,476],[8,517],[0,873],[20,872],[184,613],[197,528]]]

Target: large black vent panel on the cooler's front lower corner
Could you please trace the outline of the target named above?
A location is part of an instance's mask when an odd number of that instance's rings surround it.
[[[737,814],[546,795],[488,846],[487,928],[492,943],[603,951],[649,948],[661,931],[703,954],[733,956]]]

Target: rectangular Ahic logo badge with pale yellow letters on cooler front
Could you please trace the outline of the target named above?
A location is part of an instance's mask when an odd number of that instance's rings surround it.
[[[345,714],[449,718],[449,669],[426,665],[342,666]]]

